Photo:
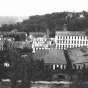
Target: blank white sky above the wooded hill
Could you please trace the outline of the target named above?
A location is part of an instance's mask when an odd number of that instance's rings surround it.
[[[88,11],[88,0],[0,0],[0,16],[32,16]]]

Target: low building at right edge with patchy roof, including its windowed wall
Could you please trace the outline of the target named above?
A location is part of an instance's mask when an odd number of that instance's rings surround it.
[[[68,55],[70,57],[73,69],[88,68],[88,48],[77,47],[68,49]]]

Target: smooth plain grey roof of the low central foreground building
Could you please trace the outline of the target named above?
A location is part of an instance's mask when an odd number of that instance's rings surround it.
[[[44,59],[45,63],[49,64],[66,64],[66,59],[63,50],[46,50],[38,49],[34,56],[34,59]]]

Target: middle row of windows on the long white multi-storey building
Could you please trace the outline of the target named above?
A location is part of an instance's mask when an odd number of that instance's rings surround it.
[[[88,41],[58,40],[59,44],[88,44]]]

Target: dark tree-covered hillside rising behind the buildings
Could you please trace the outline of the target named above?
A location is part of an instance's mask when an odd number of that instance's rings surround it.
[[[81,17],[83,15],[83,17]],[[21,23],[2,25],[0,31],[11,31],[17,29],[18,31],[35,32],[44,31],[48,28],[51,34],[55,30],[62,30],[63,25],[66,24],[68,31],[84,31],[88,29],[88,12],[58,12],[45,15],[30,16],[29,19]]]

